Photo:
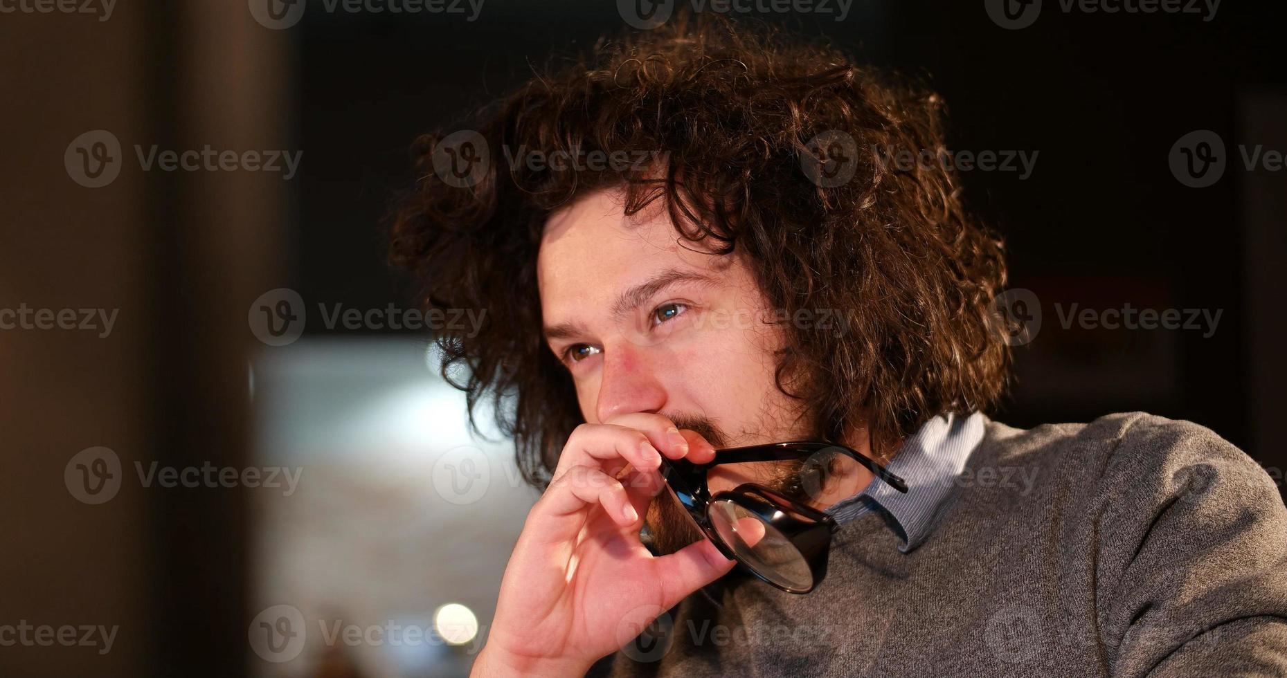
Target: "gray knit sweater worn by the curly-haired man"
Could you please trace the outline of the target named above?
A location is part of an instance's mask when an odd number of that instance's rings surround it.
[[[967,466],[1036,482],[955,488],[909,553],[869,512],[813,593],[726,578],[591,675],[1287,677],[1287,508],[1214,432],[988,422]]]

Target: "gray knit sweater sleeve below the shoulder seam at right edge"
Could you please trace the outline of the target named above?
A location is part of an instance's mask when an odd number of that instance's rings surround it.
[[[1269,475],[1190,422],[1134,416],[1093,520],[1112,675],[1287,675],[1287,508]]]

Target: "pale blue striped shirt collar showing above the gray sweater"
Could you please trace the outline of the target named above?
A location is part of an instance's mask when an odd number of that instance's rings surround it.
[[[903,440],[885,467],[907,482],[906,494],[873,479],[862,491],[837,502],[826,512],[844,525],[874,508],[882,509],[902,531],[903,545],[898,551],[910,552],[929,536],[938,506],[951,494],[954,480],[983,440],[983,414],[978,412],[968,417],[941,414],[929,419]]]

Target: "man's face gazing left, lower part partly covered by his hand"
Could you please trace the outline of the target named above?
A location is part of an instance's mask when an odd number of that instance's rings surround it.
[[[669,417],[716,448],[812,437],[775,383],[781,328],[750,269],[681,239],[660,201],[627,217],[619,192],[597,192],[546,223],[537,261],[550,349],[569,369],[589,423],[632,412]],[[710,489],[781,470],[717,467]],[[654,502],[649,525],[663,551],[700,536]],[[682,533],[682,534],[681,534]]]

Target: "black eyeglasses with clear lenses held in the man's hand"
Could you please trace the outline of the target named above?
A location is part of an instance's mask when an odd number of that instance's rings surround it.
[[[728,560],[788,593],[808,593],[826,576],[831,516],[763,485],[743,482],[710,495],[707,471],[719,464],[789,462],[816,454],[843,454],[865,466],[893,489],[907,484],[860,452],[835,443],[801,440],[716,450],[714,461],[662,459],[662,477],[698,527]]]

